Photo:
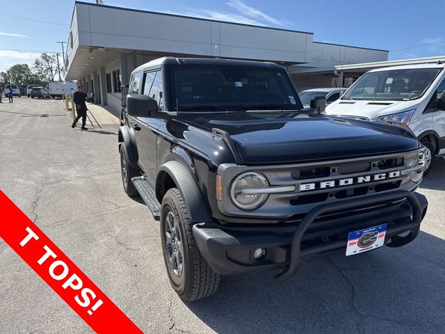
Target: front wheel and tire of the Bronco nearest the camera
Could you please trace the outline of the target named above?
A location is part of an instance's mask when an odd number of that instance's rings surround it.
[[[176,188],[169,189],[161,206],[161,246],[170,285],[184,301],[211,296],[221,277],[202,257],[192,228],[181,193]]]

